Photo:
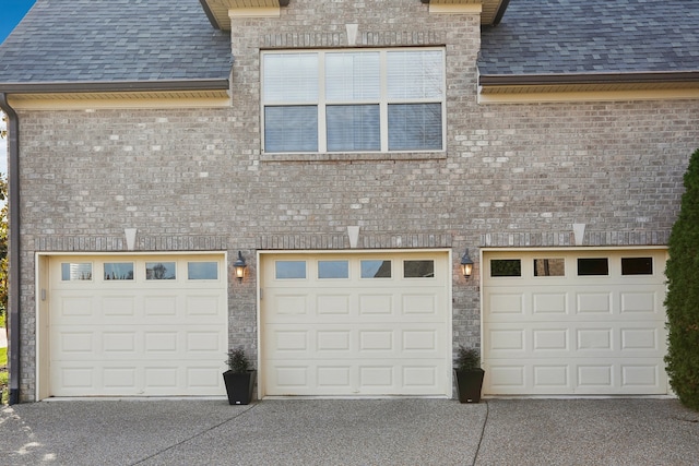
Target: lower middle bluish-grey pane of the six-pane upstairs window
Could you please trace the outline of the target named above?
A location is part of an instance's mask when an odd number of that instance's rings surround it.
[[[379,151],[378,105],[333,105],[327,108],[328,151]]]

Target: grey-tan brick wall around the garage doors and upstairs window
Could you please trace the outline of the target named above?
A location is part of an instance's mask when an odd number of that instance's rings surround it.
[[[445,46],[440,154],[275,157],[260,151],[260,48]],[[478,105],[478,19],[422,2],[295,0],[280,19],[234,20],[233,108],[22,111],[22,393],[34,393],[34,253],[241,250],[230,336],[257,350],[254,251],[452,248],[454,343],[478,343],[477,278],[465,248],[664,244],[688,157],[691,100]],[[229,264],[230,267],[230,264]],[[477,276],[478,264],[475,275]]]

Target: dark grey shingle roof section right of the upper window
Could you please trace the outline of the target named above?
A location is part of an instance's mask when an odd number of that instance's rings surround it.
[[[510,0],[481,74],[699,71],[699,0]]]

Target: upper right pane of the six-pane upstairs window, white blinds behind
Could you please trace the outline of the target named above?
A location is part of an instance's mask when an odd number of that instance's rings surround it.
[[[389,98],[442,98],[440,50],[389,51],[387,62]]]

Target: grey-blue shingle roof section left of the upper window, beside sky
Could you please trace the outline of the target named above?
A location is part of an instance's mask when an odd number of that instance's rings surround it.
[[[227,80],[232,61],[198,0],[37,0],[0,45],[0,83]]]

